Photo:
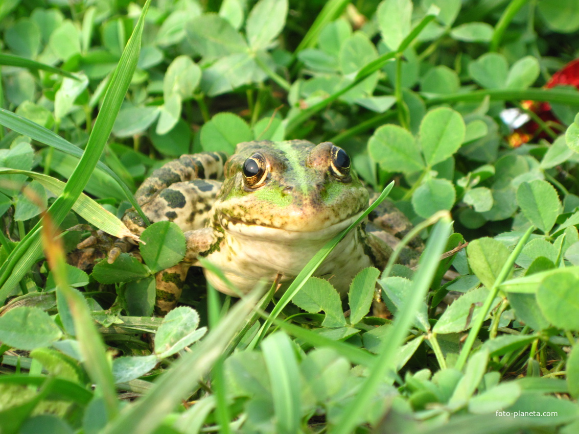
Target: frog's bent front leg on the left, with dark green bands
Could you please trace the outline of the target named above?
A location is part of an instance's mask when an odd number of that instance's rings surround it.
[[[156,274],[157,298],[155,301],[155,313],[166,315],[173,309],[181,297],[187,271],[204,252],[210,251],[218,242],[215,231],[210,227],[189,230],[185,232],[185,258],[177,265]]]

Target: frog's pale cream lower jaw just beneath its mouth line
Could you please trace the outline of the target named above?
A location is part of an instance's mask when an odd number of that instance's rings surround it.
[[[295,241],[295,240],[331,240],[332,237],[350,226],[364,211],[357,212],[353,216],[346,218],[334,225],[324,227],[318,230],[287,230],[273,226],[260,226],[252,223],[241,222],[241,220],[231,219],[228,216],[222,216],[223,229],[233,237],[248,237],[263,240],[276,241]]]

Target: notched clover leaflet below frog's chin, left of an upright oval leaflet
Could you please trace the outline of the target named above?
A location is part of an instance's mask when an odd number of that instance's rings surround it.
[[[323,310],[326,314],[322,322],[324,327],[346,326],[340,296],[327,280],[310,277],[302,290],[292,298],[292,302],[310,314]]]

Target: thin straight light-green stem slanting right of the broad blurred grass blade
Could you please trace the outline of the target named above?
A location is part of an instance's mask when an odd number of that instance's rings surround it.
[[[519,256],[519,253],[521,253],[523,247],[525,246],[527,240],[529,240],[529,237],[531,236],[534,230],[535,227],[531,226],[529,227],[529,229],[527,229],[525,234],[523,234],[523,236],[521,237],[521,239],[511,252],[511,255],[509,255],[507,262],[505,262],[503,269],[501,269],[499,275],[494,281],[492,288],[490,288],[489,295],[486,297],[485,303],[483,304],[481,310],[479,311],[477,318],[472,323],[472,328],[470,329],[470,332],[468,332],[467,340],[464,343],[463,349],[460,351],[459,358],[456,361],[455,365],[456,369],[458,370],[463,369],[467,361],[468,355],[472,350],[472,345],[474,345],[475,340],[477,339],[478,332],[481,331],[482,323],[485,322],[486,315],[488,315],[490,308],[492,307],[494,297],[496,297],[497,293],[499,292],[499,285],[503,283],[505,278],[507,278],[508,273],[512,269],[512,264],[515,263],[515,259]]]

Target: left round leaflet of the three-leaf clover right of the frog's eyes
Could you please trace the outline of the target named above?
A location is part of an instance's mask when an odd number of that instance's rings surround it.
[[[397,125],[383,125],[368,141],[368,152],[383,170],[416,172],[424,168],[424,159],[414,137]]]

